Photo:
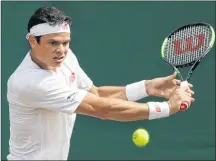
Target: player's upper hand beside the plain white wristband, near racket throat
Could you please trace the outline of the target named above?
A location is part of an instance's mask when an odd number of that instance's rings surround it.
[[[175,79],[177,73],[174,72],[172,75],[167,77],[155,78],[152,80],[147,80],[145,83],[146,91],[149,96],[158,96],[169,98],[170,94],[173,90],[179,87],[181,81]],[[187,92],[193,93],[190,88],[192,88],[192,84],[189,83],[189,88]]]

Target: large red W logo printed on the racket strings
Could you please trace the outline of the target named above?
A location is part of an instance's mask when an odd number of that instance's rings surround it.
[[[186,37],[183,40],[173,40],[174,54],[181,55],[199,50],[204,45],[204,34]]]

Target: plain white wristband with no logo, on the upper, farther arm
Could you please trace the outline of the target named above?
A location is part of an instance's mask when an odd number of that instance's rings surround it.
[[[145,88],[145,80],[128,84],[126,86],[126,96],[128,101],[137,101],[144,97],[147,97]]]

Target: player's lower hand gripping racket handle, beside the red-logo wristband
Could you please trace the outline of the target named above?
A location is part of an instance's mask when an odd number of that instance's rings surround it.
[[[190,89],[190,86],[176,88],[170,95],[170,115],[178,112],[182,102],[188,102],[189,106],[195,101],[192,97],[194,92]]]

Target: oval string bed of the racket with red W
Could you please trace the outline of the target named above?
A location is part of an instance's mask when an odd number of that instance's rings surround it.
[[[194,35],[200,36],[195,38]],[[201,41],[203,41],[203,43]],[[192,26],[184,28],[168,39],[165,48],[165,59],[173,65],[191,63],[205,53],[209,47],[210,41],[211,30],[208,27]],[[190,42],[191,45],[188,45],[186,42]],[[199,43],[203,45],[198,47]]]

